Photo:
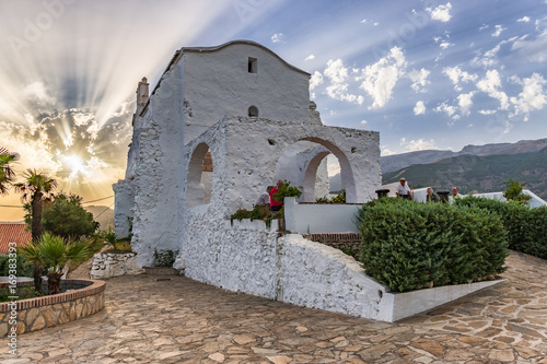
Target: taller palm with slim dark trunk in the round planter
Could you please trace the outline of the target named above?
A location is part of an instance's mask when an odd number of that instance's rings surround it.
[[[36,169],[27,169],[23,175],[24,183],[14,184],[15,191],[23,193],[21,200],[31,202],[31,233],[33,244],[36,245],[42,236],[42,209],[44,198],[53,196],[53,190],[57,187],[57,181],[45,174],[37,173]],[[34,287],[42,293],[42,272],[44,267],[39,263],[34,266]]]

